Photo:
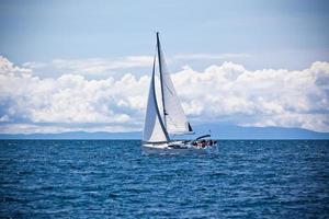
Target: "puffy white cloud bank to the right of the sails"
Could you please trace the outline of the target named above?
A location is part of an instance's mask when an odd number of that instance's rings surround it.
[[[329,130],[328,62],[299,71],[249,71],[225,62],[204,72],[185,67],[172,78],[191,115],[208,120],[235,117],[239,125]]]

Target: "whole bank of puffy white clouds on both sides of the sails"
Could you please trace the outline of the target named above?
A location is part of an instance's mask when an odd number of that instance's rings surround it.
[[[203,71],[185,66],[171,76],[192,124],[329,131],[329,62],[256,71],[224,62]],[[132,73],[91,80],[68,71],[41,78],[27,65],[0,57],[0,132],[140,130],[148,87],[149,76]]]

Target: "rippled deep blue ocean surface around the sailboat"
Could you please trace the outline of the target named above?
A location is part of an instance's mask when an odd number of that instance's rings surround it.
[[[329,218],[329,141],[0,141],[0,218]]]

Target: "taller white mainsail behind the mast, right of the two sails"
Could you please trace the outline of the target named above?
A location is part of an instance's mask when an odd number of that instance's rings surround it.
[[[157,48],[162,91],[163,120],[169,134],[189,134],[192,130],[190,123],[177,95],[166,60],[161,50],[159,34],[157,33]]]

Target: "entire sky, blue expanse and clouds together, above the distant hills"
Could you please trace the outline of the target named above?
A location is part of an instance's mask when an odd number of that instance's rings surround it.
[[[328,1],[1,1],[0,132],[143,128],[155,32],[191,124],[329,131]]]

